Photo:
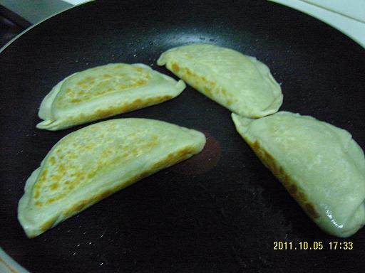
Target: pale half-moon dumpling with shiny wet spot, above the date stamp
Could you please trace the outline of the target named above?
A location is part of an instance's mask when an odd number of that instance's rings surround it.
[[[365,224],[364,152],[351,134],[291,112],[232,114],[243,139],[322,230],[353,235]]]

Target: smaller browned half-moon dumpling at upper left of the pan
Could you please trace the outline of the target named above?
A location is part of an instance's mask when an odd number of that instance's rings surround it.
[[[178,96],[185,83],[147,65],[113,63],[66,77],[44,97],[38,129],[56,131],[156,105]]]

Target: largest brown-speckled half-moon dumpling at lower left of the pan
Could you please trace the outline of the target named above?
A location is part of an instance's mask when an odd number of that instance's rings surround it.
[[[63,137],[26,181],[18,218],[35,237],[99,200],[190,158],[204,134],[153,119],[112,119]]]

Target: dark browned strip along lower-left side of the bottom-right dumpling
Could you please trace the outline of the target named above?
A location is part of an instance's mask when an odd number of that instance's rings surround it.
[[[274,176],[282,182],[289,194],[297,200],[307,215],[314,219],[319,218],[319,213],[314,208],[314,204],[308,200],[307,195],[297,186],[297,181],[294,181],[294,179],[290,177],[281,166],[279,166],[274,157],[269,154],[269,152],[265,151],[258,141],[255,141],[254,143],[247,141],[247,143],[251,146],[252,150],[255,151],[255,154],[262,161],[264,166],[269,168]]]

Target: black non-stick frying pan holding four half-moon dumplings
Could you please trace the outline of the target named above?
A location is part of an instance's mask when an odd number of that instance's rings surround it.
[[[36,129],[59,80],[113,62],[156,66],[176,45],[213,43],[269,65],[283,110],[310,114],[365,148],[364,49],[339,31],[267,1],[93,1],[53,16],[0,54],[0,245],[31,272],[364,272],[365,229],[326,235],[235,132],[230,112],[191,87],[120,117],[205,132],[202,154],[160,171],[32,240],[16,219],[26,178],[81,128]],[[274,242],[323,250],[273,250]],[[329,250],[329,242],[353,250]]]

